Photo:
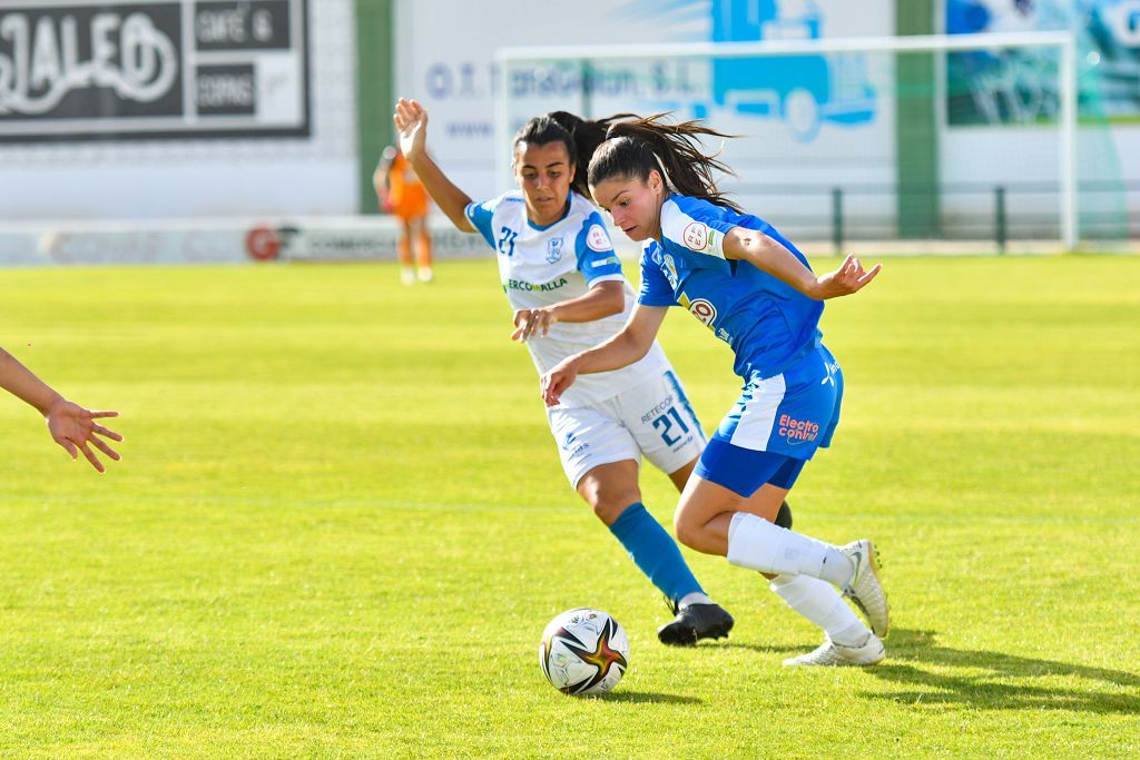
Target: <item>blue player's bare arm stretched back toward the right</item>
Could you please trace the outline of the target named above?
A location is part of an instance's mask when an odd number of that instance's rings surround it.
[[[747,261],[817,301],[850,295],[874,279],[882,269],[882,264],[876,264],[866,271],[858,259],[848,255],[839,269],[816,277],[779,240],[743,227],[733,227],[724,236],[724,255],[725,259]]]

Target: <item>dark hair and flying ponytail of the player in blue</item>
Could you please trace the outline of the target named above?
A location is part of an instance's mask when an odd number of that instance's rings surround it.
[[[682,195],[703,198],[743,213],[717,189],[715,172],[732,174],[732,170],[716,157],[717,154],[705,153],[699,139],[700,136],[732,136],[705,126],[699,121],[670,124],[661,121],[666,115],[640,119],[619,114],[605,120],[609,123],[608,139],[597,146],[589,158],[586,172],[588,183],[597,186],[616,177],[644,182],[651,171],[657,171],[667,185]]]

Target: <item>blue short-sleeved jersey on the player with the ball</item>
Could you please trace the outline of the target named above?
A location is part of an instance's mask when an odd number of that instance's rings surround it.
[[[823,302],[747,261],[724,256],[733,227],[775,239],[805,267],[807,258],[763,219],[683,195],[661,206],[661,242],[642,251],[638,302],[686,308],[732,346],[744,379],[772,377],[815,349]]]

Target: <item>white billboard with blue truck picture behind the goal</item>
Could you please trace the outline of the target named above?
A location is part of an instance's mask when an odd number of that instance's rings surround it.
[[[887,35],[894,33],[890,2],[581,0],[568,8],[514,0],[399,0],[396,31],[397,91],[427,107],[431,150],[472,197],[505,189],[496,158],[507,148],[495,142],[495,108],[504,93],[492,62],[502,47],[663,48],[653,60],[592,64],[585,76],[575,62],[510,71],[511,126],[553,109],[595,117],[670,111],[746,136],[730,141],[725,157],[754,183],[831,181],[837,172],[865,177],[868,165],[891,166],[893,92],[872,87],[865,57],[698,62],[668,55],[668,46],[678,42]]]

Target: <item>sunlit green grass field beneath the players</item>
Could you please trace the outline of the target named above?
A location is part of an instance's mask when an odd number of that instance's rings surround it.
[[[817,268],[834,264],[820,260]],[[0,398],[3,757],[1137,757],[1140,259],[895,259],[832,302],[847,395],[791,495],[869,537],[888,660],[689,553],[736,616],[658,644],[656,590],[569,490],[491,261],[18,270],[0,345],[114,408],[99,476]],[[707,427],[730,353],[662,343]],[[675,493],[646,469],[671,528]],[[546,622],[612,613],[604,698],[544,680]]]

